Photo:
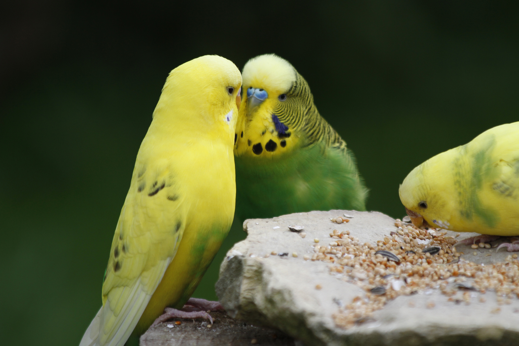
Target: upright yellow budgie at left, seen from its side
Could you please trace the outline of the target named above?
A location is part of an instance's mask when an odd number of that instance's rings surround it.
[[[235,64],[218,56],[169,74],[115,229],[103,306],[80,346],[122,346],[193,294],[233,222],[240,87]]]

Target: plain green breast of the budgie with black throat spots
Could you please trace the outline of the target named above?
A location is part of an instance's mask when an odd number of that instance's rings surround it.
[[[314,145],[278,159],[236,159],[236,216],[271,218],[311,210],[365,210],[367,190],[351,154]]]

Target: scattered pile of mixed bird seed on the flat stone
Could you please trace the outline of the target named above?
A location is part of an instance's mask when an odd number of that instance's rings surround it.
[[[334,230],[329,246],[316,244],[315,254],[305,256],[305,260],[333,263],[331,274],[341,275],[344,281],[366,292],[347,305],[337,302],[339,312],[333,316],[337,326],[349,328],[373,321],[373,312],[388,301],[431,289],[439,289],[449,297],[448,301],[457,304],[470,304],[477,296],[484,302],[476,291],[484,294],[494,290],[498,305],[519,298],[517,255],[508,256],[503,263],[475,264],[460,258],[463,252],[456,250],[455,238],[446,236],[441,229],[422,230],[399,219],[395,226],[397,232],[376,245],[360,244],[349,231]],[[434,302],[429,302],[427,308],[433,309]],[[492,312],[499,311],[497,308]]]

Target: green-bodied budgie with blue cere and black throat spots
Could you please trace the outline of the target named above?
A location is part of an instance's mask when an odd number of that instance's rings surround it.
[[[236,124],[237,217],[365,210],[367,190],[346,142],[313,104],[308,83],[267,54],[243,68]]]

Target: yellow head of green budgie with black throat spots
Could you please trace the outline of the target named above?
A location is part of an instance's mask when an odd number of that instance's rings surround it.
[[[242,78],[236,156],[272,157],[320,139],[318,120],[324,119],[308,83],[288,61],[274,54],[252,58]]]

